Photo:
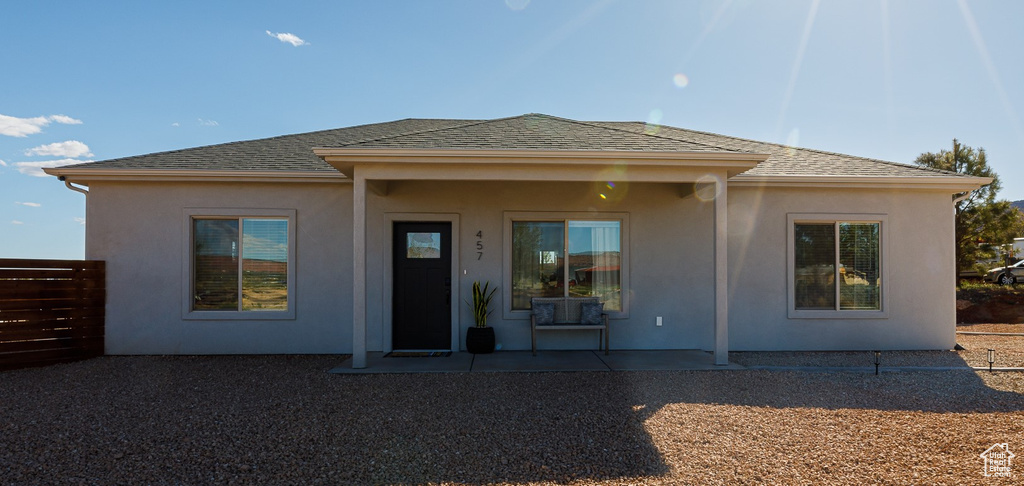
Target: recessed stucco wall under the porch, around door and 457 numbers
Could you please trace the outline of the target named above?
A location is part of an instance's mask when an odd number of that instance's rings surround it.
[[[602,200],[602,184],[572,182],[417,182],[388,184],[386,195],[368,196],[368,307],[370,351],[386,349],[383,308],[386,225],[388,213],[459,215],[460,308],[459,334],[465,347],[466,328],[473,319],[463,302],[474,280],[507,285],[503,275],[503,234],[506,212],[544,213],[553,218],[568,214],[628,213],[630,294],[628,318],[613,319],[611,347],[618,349],[713,349],[714,347],[714,205],[692,194],[684,196],[678,184],[618,184],[617,194]],[[605,190],[607,191],[607,190]],[[583,215],[581,214],[583,213]],[[476,259],[476,233],[483,234],[483,256]],[[455,299],[455,298],[454,298]],[[502,296],[492,304],[488,323],[503,350],[530,348],[528,317],[510,317]],[[664,324],[655,325],[663,317]],[[596,349],[597,333],[546,332],[539,349]]]

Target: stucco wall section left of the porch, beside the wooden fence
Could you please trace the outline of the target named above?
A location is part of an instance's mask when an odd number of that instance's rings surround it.
[[[349,184],[93,182],[86,257],[106,261],[108,354],[351,350]],[[184,208],[296,211],[294,319],[182,319]]]

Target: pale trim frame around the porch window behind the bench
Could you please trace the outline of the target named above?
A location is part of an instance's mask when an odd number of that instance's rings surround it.
[[[618,221],[620,284],[622,285],[623,310],[608,311],[612,319],[630,317],[630,214],[629,213],[588,213],[588,212],[519,212],[506,211],[505,231],[502,235],[502,317],[505,319],[528,319],[529,310],[512,310],[512,222],[513,221]],[[568,249],[562,249],[563,252]]]

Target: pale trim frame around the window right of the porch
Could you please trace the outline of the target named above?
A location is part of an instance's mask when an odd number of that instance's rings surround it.
[[[879,262],[882,265],[882,289],[880,290],[880,310],[805,310],[797,309],[797,223],[878,223]],[[791,319],[886,319],[889,318],[889,216],[865,213],[790,213],[786,215],[786,295],[787,311]],[[837,241],[838,244],[838,241]],[[838,305],[837,301],[837,305]]]

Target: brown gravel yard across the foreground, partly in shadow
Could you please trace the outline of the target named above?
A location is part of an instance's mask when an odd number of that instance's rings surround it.
[[[0,482],[1006,484],[978,454],[1024,453],[1024,372],[325,372],[340,361],[0,372]]]

